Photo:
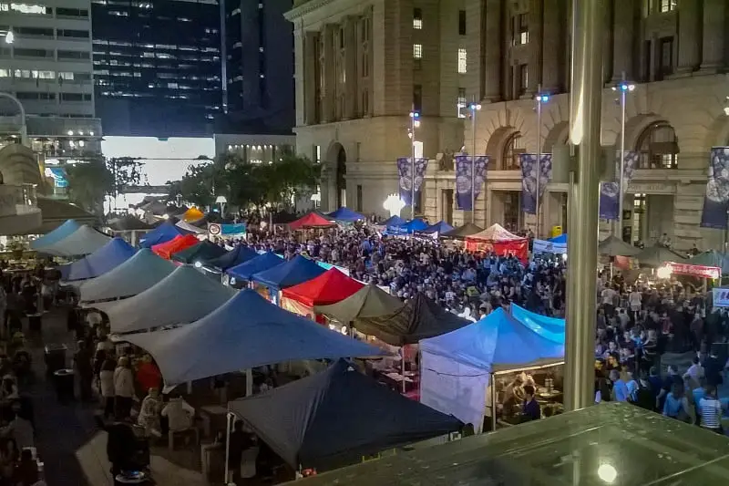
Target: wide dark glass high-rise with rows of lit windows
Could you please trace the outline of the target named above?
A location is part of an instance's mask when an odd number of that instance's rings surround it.
[[[93,0],[96,107],[109,135],[211,135],[222,111],[218,0]]]

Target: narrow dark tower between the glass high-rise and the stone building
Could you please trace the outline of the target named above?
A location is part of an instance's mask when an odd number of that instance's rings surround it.
[[[292,0],[225,0],[228,132],[291,133]]]

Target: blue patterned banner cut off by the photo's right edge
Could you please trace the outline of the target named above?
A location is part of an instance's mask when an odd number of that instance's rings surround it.
[[[706,195],[703,196],[703,228],[726,229],[729,212],[729,147],[712,148],[709,163],[709,180],[706,181]]]

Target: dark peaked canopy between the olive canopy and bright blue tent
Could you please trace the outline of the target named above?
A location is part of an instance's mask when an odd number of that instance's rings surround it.
[[[440,336],[463,326],[468,321],[418,294],[392,314],[360,317],[354,327],[361,333],[375,336],[391,346],[416,344],[427,337]]]

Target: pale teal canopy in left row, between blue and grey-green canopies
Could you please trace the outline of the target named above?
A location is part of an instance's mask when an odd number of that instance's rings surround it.
[[[78,287],[81,302],[97,302],[137,295],[157,284],[174,269],[174,264],[159,258],[149,248],[143,248],[114,270],[81,283]]]

